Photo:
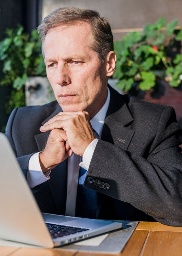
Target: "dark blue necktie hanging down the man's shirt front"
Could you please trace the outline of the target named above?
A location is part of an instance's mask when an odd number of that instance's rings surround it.
[[[98,134],[94,132],[95,137]],[[82,161],[82,158],[81,158]],[[95,191],[84,188],[83,183],[86,178],[86,169],[80,167],[78,188],[77,188],[77,204],[75,216],[83,218],[95,218]]]

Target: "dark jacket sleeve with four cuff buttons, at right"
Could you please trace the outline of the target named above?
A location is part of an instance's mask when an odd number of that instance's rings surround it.
[[[165,225],[182,226],[182,154],[177,132],[175,113],[165,107],[147,157],[99,140],[84,186],[128,202]],[[109,188],[99,187],[94,180]]]

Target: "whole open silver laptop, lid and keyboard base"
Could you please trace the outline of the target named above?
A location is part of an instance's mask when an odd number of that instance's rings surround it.
[[[8,139],[0,133],[0,238],[53,248],[121,229],[119,222],[41,213]]]

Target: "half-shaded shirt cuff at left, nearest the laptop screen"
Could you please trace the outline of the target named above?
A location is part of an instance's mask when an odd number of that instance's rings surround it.
[[[47,172],[46,176],[42,172],[39,163],[39,153],[40,152],[33,154],[29,160],[29,169],[26,181],[31,189],[50,179],[49,174],[51,171]]]

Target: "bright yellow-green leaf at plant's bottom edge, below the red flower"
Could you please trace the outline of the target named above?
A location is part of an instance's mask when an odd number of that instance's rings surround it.
[[[149,90],[155,86],[156,76],[152,72],[141,72],[142,81],[139,84],[141,90]]]

